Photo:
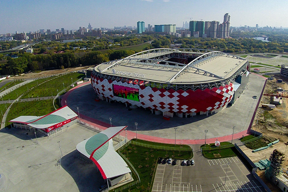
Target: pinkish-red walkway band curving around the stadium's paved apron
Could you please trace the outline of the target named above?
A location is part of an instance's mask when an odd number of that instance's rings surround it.
[[[261,76],[261,77],[263,77],[263,76]],[[263,77],[263,78],[265,78],[265,77]],[[265,78],[265,79],[267,81],[267,78]],[[265,81],[265,84],[263,86],[262,93],[264,91],[264,88],[265,88],[265,85],[266,85],[266,81]],[[65,100],[67,101],[68,96],[70,95],[70,93],[74,89],[79,88],[79,87],[81,87],[83,85],[87,85],[87,84],[90,84],[90,82],[85,82],[85,83],[82,83],[80,85],[77,85],[76,87],[70,89],[67,93],[65,93],[62,96],[61,106],[65,105]],[[261,93],[261,96],[262,96],[262,93]],[[242,137],[243,135],[244,136],[248,135],[247,131],[249,131],[251,126],[252,126],[252,123],[253,123],[253,120],[254,120],[254,117],[255,117],[259,102],[261,100],[261,96],[260,96],[260,98],[258,100],[257,107],[254,110],[254,114],[253,114],[253,117],[252,117],[252,120],[250,122],[250,125],[249,125],[248,129],[246,131],[242,131],[240,133],[234,134],[233,139],[238,139],[238,138]],[[68,102],[67,102],[67,105],[68,105]],[[103,130],[105,130],[105,129],[110,127],[109,123],[105,123],[105,122],[99,121],[97,119],[93,119],[93,118],[85,116],[83,114],[80,114],[80,118],[81,118],[81,121],[83,121],[83,122],[85,122],[85,123],[87,123],[89,125],[92,125],[94,127],[98,127],[100,129],[103,129]],[[121,135],[125,136],[125,133],[122,132]],[[127,137],[128,137],[129,140],[131,140],[131,139],[136,137],[136,133],[134,133],[132,131],[127,131]],[[165,138],[161,138],[161,137],[154,137],[154,136],[143,135],[143,134],[137,134],[137,138],[141,139],[141,140],[153,141],[153,142],[158,142],[158,143],[170,143],[170,144],[174,144],[175,143],[174,139],[165,139]],[[216,141],[216,139],[218,139],[218,141],[220,141],[220,142],[231,141],[232,135],[227,135],[227,136],[223,136],[223,137],[216,137],[216,138],[209,138],[209,139],[206,139],[206,143],[214,143]],[[205,143],[204,139],[201,139],[201,140],[177,140],[176,139],[176,144],[204,144],[204,143]]]

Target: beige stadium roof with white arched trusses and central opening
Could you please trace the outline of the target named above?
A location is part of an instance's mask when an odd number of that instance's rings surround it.
[[[95,67],[95,71],[160,83],[208,83],[231,77],[239,69],[243,69],[247,62],[244,58],[219,51],[203,53],[151,49],[137,54],[118,61],[102,63]],[[173,54],[194,54],[196,58],[188,64],[168,61]]]

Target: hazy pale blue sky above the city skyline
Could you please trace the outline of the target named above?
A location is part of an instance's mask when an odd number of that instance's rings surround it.
[[[0,34],[38,29],[79,29],[148,24],[176,24],[193,20],[223,22],[230,26],[288,27],[287,0],[1,0]]]

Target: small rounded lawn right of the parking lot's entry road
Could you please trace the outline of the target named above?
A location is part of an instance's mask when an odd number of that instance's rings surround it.
[[[206,149],[205,145],[202,145],[201,149],[203,156],[208,159],[218,159],[236,156],[236,154],[233,152],[233,150],[235,150],[235,147],[233,147],[233,145],[229,142],[221,142],[219,147],[216,147],[214,143],[210,143],[206,145]]]

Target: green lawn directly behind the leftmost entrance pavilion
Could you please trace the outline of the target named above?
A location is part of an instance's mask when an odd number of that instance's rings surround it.
[[[52,99],[14,103],[7,115],[6,126],[10,125],[10,122],[8,121],[22,115],[43,116],[52,111],[55,111]]]

